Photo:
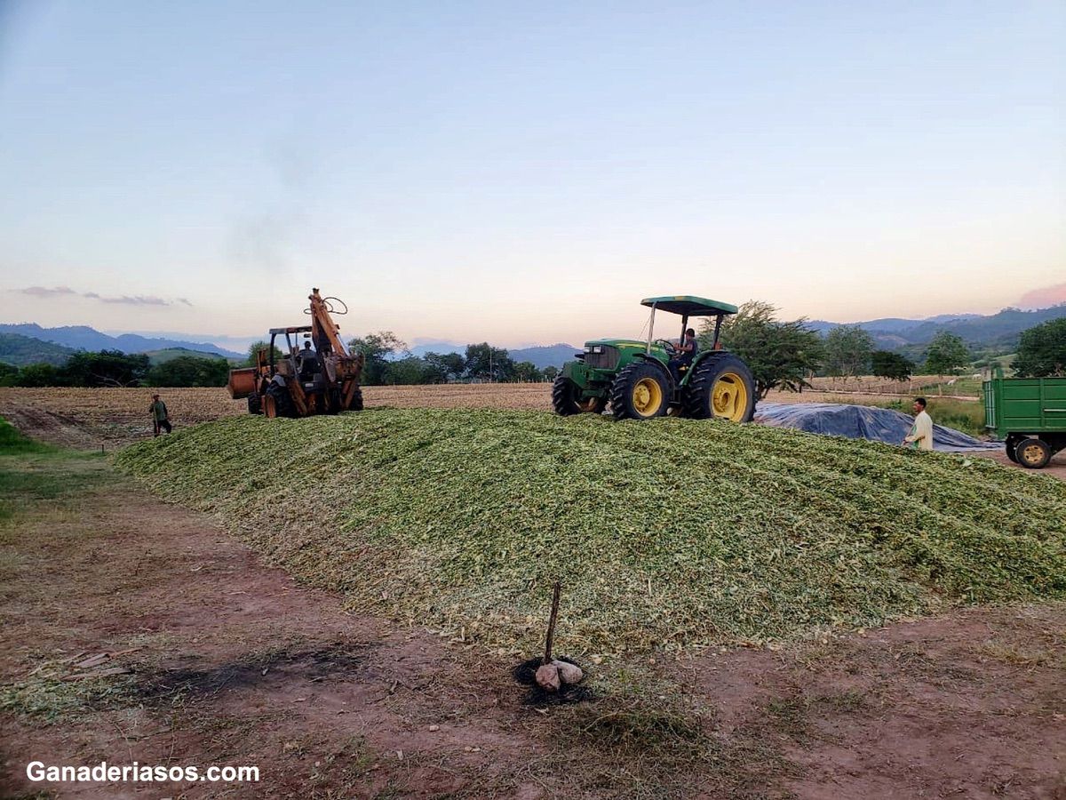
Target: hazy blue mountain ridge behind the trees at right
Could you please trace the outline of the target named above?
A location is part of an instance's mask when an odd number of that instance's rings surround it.
[[[940,331],[949,331],[960,336],[970,347],[1011,350],[1017,346],[1018,336],[1022,331],[1060,317],[1066,317],[1066,303],[1036,311],[1004,308],[988,316],[942,314],[928,319],[915,320],[893,317],[854,324],[869,331],[878,347],[889,350],[926,345]],[[813,320],[809,324],[825,335],[843,323]]]

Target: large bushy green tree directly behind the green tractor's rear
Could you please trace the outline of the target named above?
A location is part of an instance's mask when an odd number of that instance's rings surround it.
[[[801,390],[822,357],[822,340],[807,327],[806,319],[781,322],[776,314],[770,303],[752,300],[722,325],[723,346],[750,368],[760,399],[778,387]],[[700,347],[711,347],[713,338],[714,322],[707,319],[700,327]]]

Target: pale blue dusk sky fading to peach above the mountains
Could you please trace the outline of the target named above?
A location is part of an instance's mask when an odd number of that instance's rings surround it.
[[[632,336],[1066,301],[1066,4],[0,0],[0,322]]]

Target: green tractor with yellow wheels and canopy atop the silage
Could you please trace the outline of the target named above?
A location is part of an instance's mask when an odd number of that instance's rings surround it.
[[[747,422],[755,414],[755,380],[738,356],[722,350],[722,320],[737,306],[692,297],[647,298],[651,308],[647,341],[596,339],[577,361],[563,365],[551,401],[556,414],[601,414],[608,403],[615,419],[650,419],[663,414]],[[681,338],[692,317],[714,317],[714,341],[691,362],[675,345],[656,339],[656,311],[681,316]]]

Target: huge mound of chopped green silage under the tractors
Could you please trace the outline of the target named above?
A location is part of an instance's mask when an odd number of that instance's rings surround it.
[[[1066,597],[1066,484],[759,426],[537,412],[238,417],[119,465],[353,608],[568,653],[871,626]]]

